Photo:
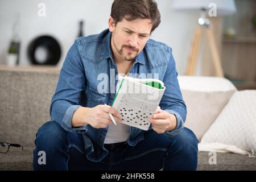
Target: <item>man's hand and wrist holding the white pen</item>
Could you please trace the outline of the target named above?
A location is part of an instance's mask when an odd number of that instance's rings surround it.
[[[121,117],[116,109],[108,105],[95,107],[79,107],[73,114],[72,127],[90,125],[96,129],[108,127],[112,124],[109,113],[113,114],[115,121],[121,123]]]

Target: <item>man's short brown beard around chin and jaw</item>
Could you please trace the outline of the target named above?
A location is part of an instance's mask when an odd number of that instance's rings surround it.
[[[135,57],[138,55],[138,53],[139,53],[139,49],[138,48],[132,47],[132,46],[129,46],[129,45],[123,45],[121,48],[118,48],[117,44],[115,44],[115,42],[114,42],[114,35],[113,35],[112,41],[113,41],[114,47],[117,50],[118,54],[122,57],[122,59],[124,59],[126,61],[133,61],[135,59]],[[133,52],[128,52],[127,54],[125,54],[123,52],[123,49],[125,49],[125,48],[131,49],[134,52],[136,52],[135,56],[133,56]]]

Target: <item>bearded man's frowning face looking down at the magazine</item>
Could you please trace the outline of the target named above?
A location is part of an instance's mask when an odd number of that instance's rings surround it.
[[[109,30],[112,32],[112,51],[118,59],[133,61],[142,51],[149,39],[152,29],[150,19],[135,19],[127,21],[125,18],[117,24],[111,23]]]

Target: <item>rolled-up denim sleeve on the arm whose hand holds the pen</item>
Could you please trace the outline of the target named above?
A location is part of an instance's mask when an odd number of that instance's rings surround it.
[[[87,126],[72,127],[73,114],[76,109],[81,107],[79,100],[84,90],[85,81],[84,65],[77,49],[76,40],[65,57],[49,110],[52,121],[56,121],[67,131],[86,132]]]

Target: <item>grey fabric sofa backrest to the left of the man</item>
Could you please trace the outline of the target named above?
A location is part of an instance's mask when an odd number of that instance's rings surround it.
[[[34,146],[35,134],[50,121],[49,106],[59,72],[0,71],[0,141]]]

